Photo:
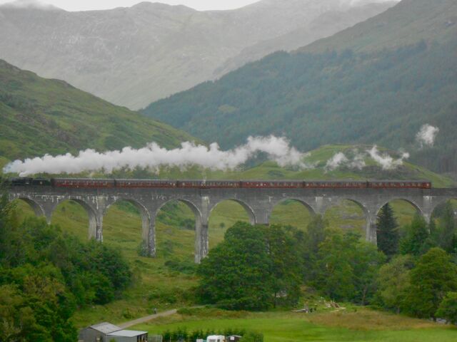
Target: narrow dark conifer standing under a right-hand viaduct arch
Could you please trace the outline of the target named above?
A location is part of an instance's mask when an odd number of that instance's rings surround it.
[[[381,208],[378,214],[377,222],[378,249],[392,257],[398,252],[398,242],[400,234],[398,233],[398,224],[390,204]]]

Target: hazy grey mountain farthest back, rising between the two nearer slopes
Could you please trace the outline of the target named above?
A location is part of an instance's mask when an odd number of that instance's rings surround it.
[[[350,2],[263,0],[203,12],[144,2],[67,12],[27,0],[0,6],[0,58],[137,109],[273,51],[329,36],[393,5]]]

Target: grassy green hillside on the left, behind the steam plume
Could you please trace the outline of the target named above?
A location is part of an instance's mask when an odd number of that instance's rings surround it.
[[[64,81],[0,60],[0,156],[10,160],[81,149],[175,147],[190,135],[107,103]]]

